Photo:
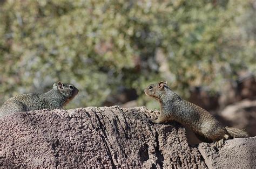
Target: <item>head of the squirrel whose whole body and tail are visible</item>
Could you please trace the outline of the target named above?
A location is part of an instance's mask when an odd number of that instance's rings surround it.
[[[147,96],[151,96],[156,98],[157,100],[160,99],[161,94],[164,92],[164,87],[167,87],[167,82],[159,82],[152,85],[149,85],[145,90],[145,94]]]

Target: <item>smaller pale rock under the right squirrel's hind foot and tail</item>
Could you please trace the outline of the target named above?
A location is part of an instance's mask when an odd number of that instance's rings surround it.
[[[198,149],[208,168],[256,168],[256,137],[226,140],[221,149],[200,143]]]

